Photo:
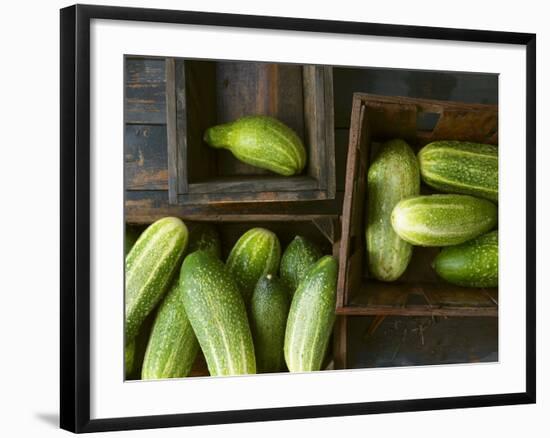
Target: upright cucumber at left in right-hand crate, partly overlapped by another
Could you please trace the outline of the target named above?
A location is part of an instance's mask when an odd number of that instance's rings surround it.
[[[418,162],[403,140],[384,143],[367,176],[366,250],[369,270],[382,281],[397,280],[411,260],[412,245],[393,230],[399,201],[420,193]]]

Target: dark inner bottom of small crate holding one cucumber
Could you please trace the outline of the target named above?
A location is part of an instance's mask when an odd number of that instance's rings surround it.
[[[248,115],[276,117],[296,131],[308,155],[301,179],[314,179],[306,138],[301,65],[184,60],[188,183],[269,179],[279,175],[237,160],[203,141],[207,128]],[[183,117],[178,114],[178,117]],[[282,178],[282,177],[281,177]],[[288,177],[287,177],[288,178]],[[294,178],[294,177],[293,177]]]

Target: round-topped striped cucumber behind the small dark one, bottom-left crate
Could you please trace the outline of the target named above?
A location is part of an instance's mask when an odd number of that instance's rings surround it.
[[[244,302],[250,298],[262,275],[276,274],[281,259],[281,244],[272,231],[252,228],[244,233],[227,257],[227,269],[237,282]]]

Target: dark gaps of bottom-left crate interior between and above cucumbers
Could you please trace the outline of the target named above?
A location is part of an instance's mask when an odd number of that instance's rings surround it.
[[[185,221],[190,224],[192,227],[192,222]],[[284,251],[286,246],[294,239],[295,236],[301,235],[309,239],[310,241],[316,243],[321,249],[323,254],[332,254],[333,253],[333,242],[331,242],[320,229],[310,220],[292,220],[289,221],[244,221],[244,222],[233,222],[233,221],[209,221],[208,223],[213,224],[220,236],[221,247],[222,247],[222,260],[226,260],[229,252],[233,245],[237,242],[240,236],[242,236],[246,231],[254,227],[263,227],[273,231],[281,243],[281,251]],[[146,228],[145,225],[135,225],[127,224],[126,234],[128,233],[139,233]],[[138,344],[137,344],[137,355],[138,361],[142,361],[143,355],[145,354],[145,347],[149,332],[151,330],[152,324],[154,322],[156,311],[151,312],[144,322],[140,333],[138,334]],[[332,344],[331,344],[332,345]],[[332,354],[329,351],[327,354],[326,363],[332,362]],[[191,370],[191,377],[201,377],[208,376],[208,368],[206,365],[205,358],[202,352],[199,351],[195,364]],[[139,380],[139,376],[131,376],[128,380]]]

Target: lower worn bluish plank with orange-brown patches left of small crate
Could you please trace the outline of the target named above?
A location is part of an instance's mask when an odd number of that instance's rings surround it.
[[[126,125],[124,129],[124,187],[167,190],[166,129],[156,125]]]

